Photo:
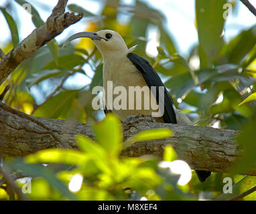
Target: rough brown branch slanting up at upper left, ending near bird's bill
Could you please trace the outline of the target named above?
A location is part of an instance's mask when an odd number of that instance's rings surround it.
[[[82,13],[64,13],[67,0],[59,0],[58,4],[52,10],[46,23],[41,27],[34,29],[21,43],[14,47],[5,56],[0,51],[0,85],[6,78],[36,50],[46,44],[48,41],[62,33],[68,26],[76,23],[82,18]]]

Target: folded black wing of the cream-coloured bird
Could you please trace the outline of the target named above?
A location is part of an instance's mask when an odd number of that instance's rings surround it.
[[[159,86],[164,86],[164,83],[162,82],[161,78],[158,76],[157,72],[153,70],[152,66],[145,60],[144,58],[141,58],[141,56],[138,56],[137,54],[129,53],[127,54],[127,57],[133,65],[141,72],[143,78],[145,79],[145,82],[147,82],[147,86],[149,88],[151,86],[156,86],[156,100],[159,100]],[[164,88],[164,122],[166,123],[177,123],[176,120],[176,114],[174,111],[174,102],[172,101],[172,98],[166,89]]]

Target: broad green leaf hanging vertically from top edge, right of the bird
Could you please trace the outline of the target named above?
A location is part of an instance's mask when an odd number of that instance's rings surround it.
[[[224,45],[223,5],[227,0],[196,0],[196,24],[200,43],[200,68],[209,68]]]

